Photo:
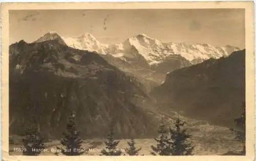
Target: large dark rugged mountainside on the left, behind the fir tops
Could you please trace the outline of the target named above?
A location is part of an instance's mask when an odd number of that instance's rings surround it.
[[[20,41],[9,49],[10,134],[23,135],[30,117],[36,115],[42,134],[59,138],[70,111],[76,113],[83,138],[105,137],[110,125],[122,138],[157,132],[158,121],[141,103],[151,99],[137,78],[96,52],[57,40]]]

